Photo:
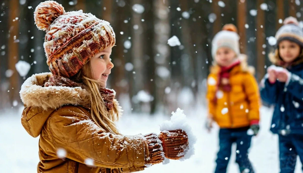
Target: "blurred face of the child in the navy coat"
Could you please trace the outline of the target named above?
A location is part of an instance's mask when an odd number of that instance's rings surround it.
[[[279,43],[279,54],[283,61],[290,63],[300,55],[300,46],[295,42],[283,40]]]

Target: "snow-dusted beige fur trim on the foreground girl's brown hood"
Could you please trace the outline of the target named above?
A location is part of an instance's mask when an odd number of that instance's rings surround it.
[[[40,107],[44,110],[56,109],[68,104],[90,108],[88,92],[81,87],[44,87],[51,76],[52,73],[39,73],[25,80],[21,86],[20,97],[26,106]],[[112,91],[115,94],[115,91]],[[117,100],[114,99],[113,104],[120,108]]]

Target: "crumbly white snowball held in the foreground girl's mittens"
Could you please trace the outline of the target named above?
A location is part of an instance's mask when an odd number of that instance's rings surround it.
[[[164,134],[167,134],[168,131],[175,131],[178,129],[181,129],[186,132],[188,138],[188,146],[184,149],[182,153],[178,154],[178,156],[182,156],[182,158],[179,159],[182,161],[194,155],[194,144],[196,143],[196,137],[193,135],[191,126],[187,123],[186,115],[183,113],[182,109],[178,108],[176,112],[172,112],[171,114],[172,116],[170,121],[166,120],[165,122],[163,122],[160,125],[160,130]]]

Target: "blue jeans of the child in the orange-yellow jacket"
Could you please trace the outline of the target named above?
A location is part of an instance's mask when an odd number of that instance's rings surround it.
[[[248,159],[248,149],[251,144],[251,135],[247,135],[247,130],[235,131],[234,129],[220,129],[219,145],[220,149],[216,160],[217,167],[215,173],[225,173],[228,161],[231,156],[231,145],[236,142],[237,153],[236,163],[240,172],[254,173],[251,162]]]

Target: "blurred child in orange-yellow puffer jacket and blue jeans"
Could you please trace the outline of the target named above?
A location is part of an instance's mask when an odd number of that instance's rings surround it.
[[[211,122],[220,126],[220,150],[215,173],[226,172],[231,145],[236,142],[236,162],[240,172],[253,173],[248,159],[252,135],[259,130],[259,92],[253,67],[247,65],[246,55],[240,54],[239,35],[233,24],[226,24],[212,41],[215,65],[208,76],[207,100]]]

